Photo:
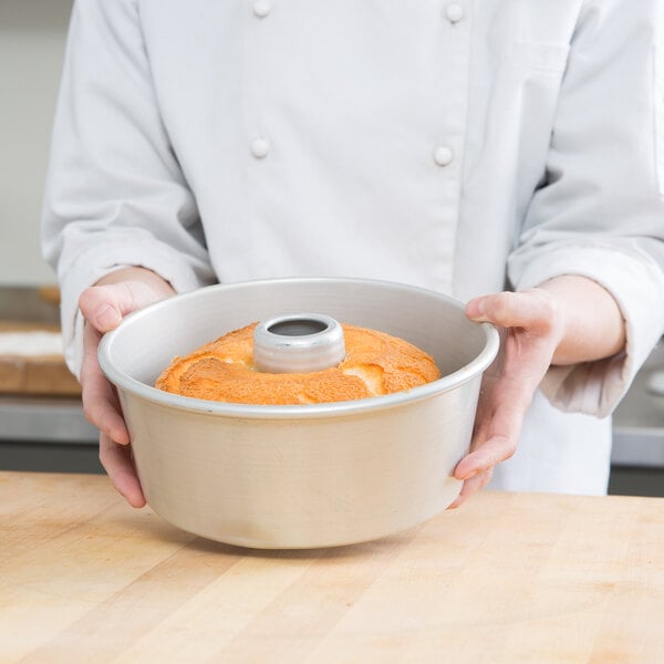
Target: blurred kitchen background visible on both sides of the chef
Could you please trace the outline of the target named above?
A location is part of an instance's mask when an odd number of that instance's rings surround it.
[[[0,470],[100,473],[40,214],[72,0],[0,0]],[[610,492],[664,496],[664,347],[614,417]]]

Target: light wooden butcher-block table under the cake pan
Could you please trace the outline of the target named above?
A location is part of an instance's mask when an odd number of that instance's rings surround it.
[[[252,551],[104,476],[0,473],[0,662],[664,662],[664,499],[484,492],[397,537]]]

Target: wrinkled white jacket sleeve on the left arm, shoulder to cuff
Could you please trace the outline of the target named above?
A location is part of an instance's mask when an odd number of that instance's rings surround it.
[[[58,273],[65,359],[76,375],[83,289],[123,266],[154,270],[176,291],[214,280],[196,203],[159,113],[135,0],[74,4],[42,250]]]

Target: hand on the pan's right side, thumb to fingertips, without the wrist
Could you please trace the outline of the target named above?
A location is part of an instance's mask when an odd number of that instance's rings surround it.
[[[454,470],[464,485],[450,508],[481,489],[494,467],[515,454],[526,411],[563,335],[557,300],[540,288],[475,298],[466,315],[494,323],[501,343],[483,377],[470,453]]]

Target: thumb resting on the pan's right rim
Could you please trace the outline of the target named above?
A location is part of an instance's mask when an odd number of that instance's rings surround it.
[[[557,319],[553,298],[541,289],[483,295],[466,304],[466,315],[477,322],[501,328],[528,328],[541,331]]]

